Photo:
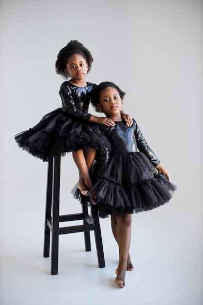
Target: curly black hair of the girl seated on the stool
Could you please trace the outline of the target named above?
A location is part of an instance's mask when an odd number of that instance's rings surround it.
[[[55,62],[55,72],[62,76],[65,79],[68,79],[68,76],[65,72],[66,64],[68,59],[74,55],[80,54],[86,60],[88,64],[88,72],[92,67],[93,57],[90,51],[79,41],[71,40],[63,49],[58,53],[57,60]]]

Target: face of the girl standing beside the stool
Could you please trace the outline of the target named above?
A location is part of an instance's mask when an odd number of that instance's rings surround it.
[[[123,100],[118,91],[113,87],[107,87],[100,93],[97,109],[101,110],[106,116],[119,116],[123,107]]]

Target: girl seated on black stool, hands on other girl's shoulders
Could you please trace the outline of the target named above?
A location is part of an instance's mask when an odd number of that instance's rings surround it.
[[[71,40],[62,48],[55,70],[65,79],[70,79],[60,87],[62,108],[46,114],[36,126],[15,136],[19,147],[43,161],[73,152],[81,174],[77,187],[83,194],[92,187],[89,170],[96,150],[105,152],[109,149],[97,124],[114,126],[111,118],[88,113],[90,94],[96,84],[86,82],[85,76],[91,70],[92,62],[90,51],[77,40]],[[124,113],[122,116],[129,125],[130,116]]]

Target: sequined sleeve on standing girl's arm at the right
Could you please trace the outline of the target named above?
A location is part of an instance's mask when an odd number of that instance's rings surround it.
[[[142,135],[139,127],[137,126],[137,123],[135,129],[135,138],[137,141],[137,148],[139,149],[139,151],[143,152],[146,155],[146,157],[148,157],[148,159],[153,164],[153,166],[157,166],[160,163],[160,160],[157,158],[155,153],[152,152],[152,150],[148,146],[144,136]]]

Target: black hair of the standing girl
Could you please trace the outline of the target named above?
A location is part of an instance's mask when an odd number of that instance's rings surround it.
[[[95,109],[95,111],[97,111],[97,112],[99,112],[97,109],[97,104],[99,104],[100,93],[102,92],[103,89],[108,88],[108,87],[112,87],[115,90],[117,90],[120,95],[120,98],[122,98],[122,99],[126,95],[126,93],[124,91],[122,91],[117,85],[115,85],[111,81],[101,82],[91,92],[91,104],[92,104],[93,108]]]

